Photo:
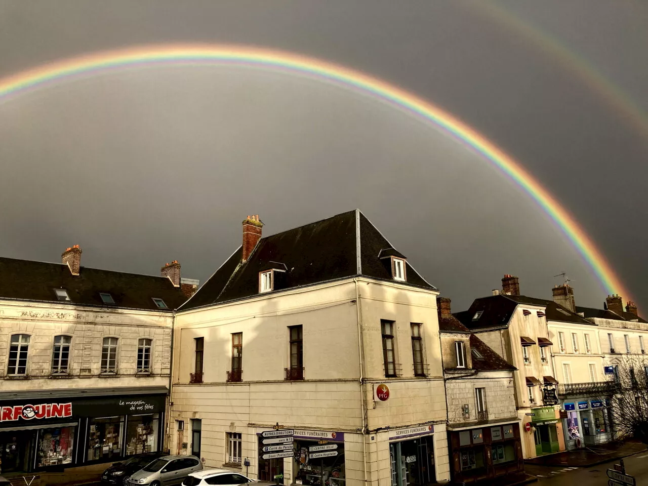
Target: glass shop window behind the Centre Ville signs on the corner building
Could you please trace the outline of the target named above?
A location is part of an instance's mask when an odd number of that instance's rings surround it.
[[[295,479],[303,485],[344,486],[344,444],[295,441],[297,471]]]

